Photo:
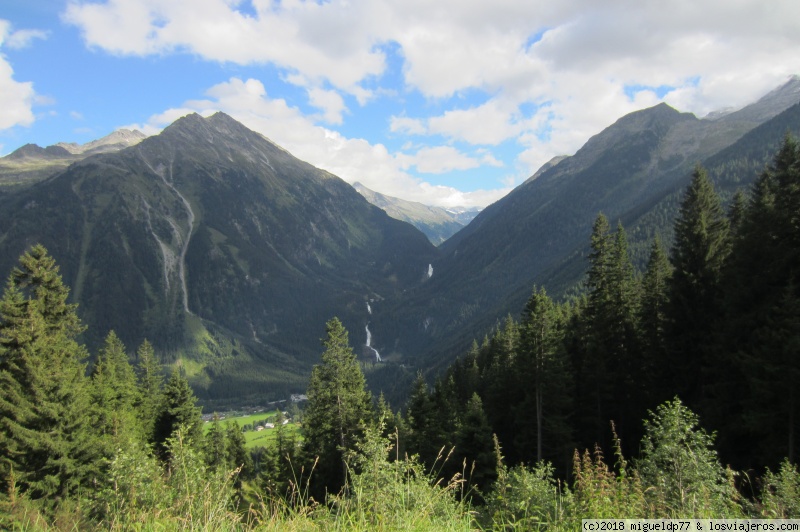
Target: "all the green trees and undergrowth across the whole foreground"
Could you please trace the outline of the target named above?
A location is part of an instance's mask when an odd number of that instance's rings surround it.
[[[302,439],[248,452],[185,375],[113,333],[90,356],[58,266],[0,300],[0,526],[570,530],[581,518],[800,517],[800,147],[727,212],[702,167],[634,268],[598,214],[584,284],[533,287],[406,405],[325,325]],[[98,332],[95,332],[98,334]],[[87,362],[91,360],[91,363]],[[278,429],[280,430],[280,429]]]

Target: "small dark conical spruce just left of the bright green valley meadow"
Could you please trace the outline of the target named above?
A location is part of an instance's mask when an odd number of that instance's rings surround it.
[[[153,427],[153,443],[162,460],[169,459],[167,440],[181,427],[184,445],[199,446],[202,443],[203,420],[196,403],[189,382],[176,369],[164,385]]]

